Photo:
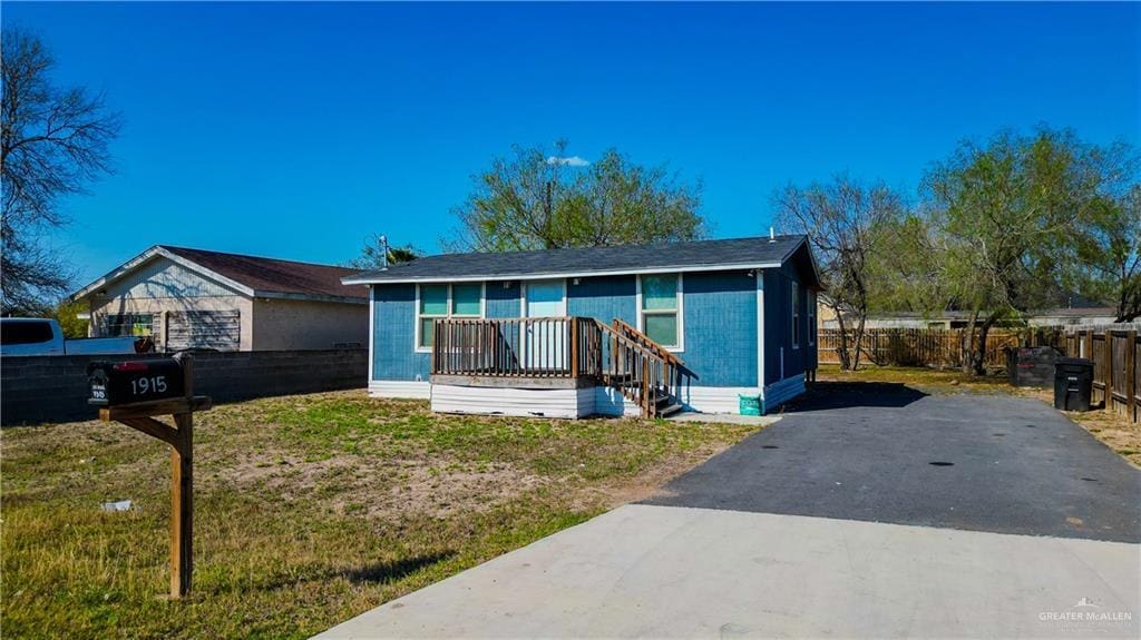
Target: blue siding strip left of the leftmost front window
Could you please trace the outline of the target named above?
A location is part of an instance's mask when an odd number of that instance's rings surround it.
[[[372,379],[428,379],[430,354],[415,351],[415,285],[373,285]]]

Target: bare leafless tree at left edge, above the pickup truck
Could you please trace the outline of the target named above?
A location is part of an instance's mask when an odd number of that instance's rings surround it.
[[[88,182],[111,172],[107,145],[120,128],[102,97],[52,84],[54,64],[35,34],[5,27],[0,309],[6,313],[43,311],[49,298],[66,292],[70,270],[43,247],[43,236],[67,223],[62,197],[84,192]]]

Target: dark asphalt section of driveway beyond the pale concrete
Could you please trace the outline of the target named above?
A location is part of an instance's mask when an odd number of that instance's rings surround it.
[[[1141,542],[1141,473],[1045,403],[820,385],[647,503]]]

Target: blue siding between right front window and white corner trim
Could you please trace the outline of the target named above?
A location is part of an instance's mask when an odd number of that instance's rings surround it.
[[[756,280],[744,271],[686,273],[685,352],[702,387],[756,386]]]

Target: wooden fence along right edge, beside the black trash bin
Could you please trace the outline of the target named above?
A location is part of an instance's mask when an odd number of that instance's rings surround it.
[[[1066,353],[1093,361],[1092,404],[1141,421],[1141,336],[1135,328],[1070,331]]]

